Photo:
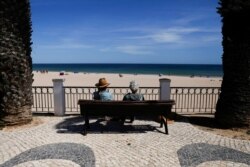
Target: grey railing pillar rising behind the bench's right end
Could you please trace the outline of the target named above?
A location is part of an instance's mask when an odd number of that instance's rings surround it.
[[[170,79],[162,78],[160,81],[160,100],[170,100]]]

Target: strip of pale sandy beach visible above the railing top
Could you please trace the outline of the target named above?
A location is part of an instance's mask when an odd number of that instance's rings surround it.
[[[73,73],[59,72],[41,73],[34,71],[33,86],[53,86],[52,79],[64,79],[64,86],[94,86],[99,78],[105,77],[111,87],[128,86],[131,80],[137,81],[141,87],[158,87],[159,79],[168,78],[172,87],[220,87],[221,77],[173,76],[173,75],[142,75],[142,74],[111,74],[111,73]]]

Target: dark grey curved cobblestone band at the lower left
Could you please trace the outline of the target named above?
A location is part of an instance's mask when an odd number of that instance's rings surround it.
[[[0,167],[13,167],[24,162],[44,159],[69,160],[82,167],[95,166],[95,156],[89,147],[76,143],[56,143],[39,146],[22,152],[0,165]]]

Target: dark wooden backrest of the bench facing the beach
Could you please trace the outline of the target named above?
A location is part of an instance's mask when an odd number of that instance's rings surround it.
[[[99,101],[79,100],[81,114],[91,115],[161,115],[171,112],[174,100]]]

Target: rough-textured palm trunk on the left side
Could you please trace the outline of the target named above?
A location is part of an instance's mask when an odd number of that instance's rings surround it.
[[[0,124],[32,120],[29,0],[0,1]]]

